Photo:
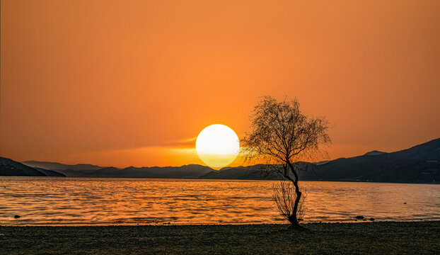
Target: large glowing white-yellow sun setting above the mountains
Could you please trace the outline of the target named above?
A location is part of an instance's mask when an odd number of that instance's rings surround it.
[[[240,150],[236,132],[226,125],[209,125],[202,130],[195,141],[195,149],[202,162],[212,167],[231,164]]]

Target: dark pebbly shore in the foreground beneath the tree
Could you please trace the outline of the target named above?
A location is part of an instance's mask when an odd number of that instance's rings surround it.
[[[0,254],[440,254],[440,221],[0,227]]]

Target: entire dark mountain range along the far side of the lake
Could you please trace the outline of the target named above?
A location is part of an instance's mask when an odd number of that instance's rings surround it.
[[[308,181],[380,181],[438,183],[440,181],[440,138],[398,152],[367,152],[358,157],[328,162],[300,162]],[[265,165],[234,166],[214,170],[208,166],[134,167],[124,169],[91,164],[67,165],[55,162],[14,162],[0,158],[0,176],[69,176],[120,178],[190,178],[190,179],[280,179],[265,176]]]

